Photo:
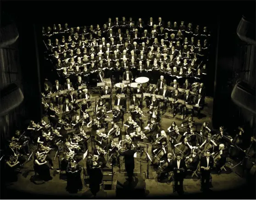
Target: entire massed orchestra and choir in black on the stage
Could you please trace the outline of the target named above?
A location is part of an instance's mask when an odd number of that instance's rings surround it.
[[[47,116],[38,123],[30,121],[24,133],[17,130],[11,137],[6,157],[10,168],[24,163],[31,143],[38,146],[33,162],[45,180],[51,179],[50,170],[59,169],[50,157],[51,151],[56,155],[58,151],[60,169],[64,166],[68,174],[67,190],[82,189],[86,152],[94,187],[102,178],[98,169],[108,163],[120,168],[120,156],[131,182],[132,159],[144,142],[151,148],[147,153],[151,165],[157,166],[157,179],[173,172],[174,191],[182,193],[188,169],[201,169],[201,187],[207,190],[211,171],[221,173],[232,152],[229,148],[235,148],[241,159],[250,156],[251,148],[244,152],[242,146],[242,127],[233,139],[223,126],[214,134],[205,121],[200,129],[195,125],[205,107],[207,75],[199,26],[196,32],[190,23],[187,28],[184,22],[165,25],[161,17],[156,24],[152,18],[147,24],[139,19],[136,26],[132,19],[109,18],[105,25],[95,30],[92,26],[89,32],[86,26],[82,31],[65,25],[67,31],[45,33],[58,77],[52,87],[44,85],[42,106],[48,105]],[[195,33],[199,39],[194,42]],[[61,41],[58,45],[52,44],[56,37]],[[168,128],[161,126],[163,115],[173,118],[164,119]]]

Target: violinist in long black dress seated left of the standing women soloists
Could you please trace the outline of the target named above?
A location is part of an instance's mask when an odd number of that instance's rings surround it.
[[[40,178],[44,181],[49,181],[52,179],[50,176],[50,168],[47,165],[45,155],[36,153],[34,159],[34,168],[39,174]]]

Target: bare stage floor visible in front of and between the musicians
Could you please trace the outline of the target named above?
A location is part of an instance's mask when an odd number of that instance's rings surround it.
[[[195,121],[198,124],[202,124],[203,122],[210,122],[210,128],[211,128],[211,116],[212,116],[212,104],[213,99],[206,97],[206,106],[204,110],[201,112],[203,114],[202,119],[198,120],[195,118]],[[148,111],[148,109],[145,111]],[[125,114],[125,120],[127,120],[128,113]],[[177,118],[169,119],[166,116],[161,116],[161,130],[167,131],[167,128],[170,126],[172,121],[175,121],[178,126],[181,124],[181,120]],[[200,126],[197,127],[197,130],[200,129]],[[124,126],[122,127],[122,131],[124,131]],[[124,138],[124,135],[122,136]],[[151,154],[151,146],[148,149],[149,154]],[[33,146],[32,146],[33,147]],[[35,147],[33,147],[35,149]],[[89,142],[89,151],[91,150],[91,143]],[[56,152],[51,152],[50,156],[54,160]],[[106,158],[107,159],[107,158]],[[167,196],[173,196],[173,198],[177,196],[177,192],[173,193],[173,183],[172,182],[166,182],[159,183],[156,178],[156,172],[152,166],[149,166],[149,178],[146,179],[147,176],[147,163],[141,163],[140,168],[140,157],[138,153],[138,158],[135,158],[135,169],[134,173],[142,173],[142,176],[145,178],[146,183],[146,198],[166,198]],[[145,162],[145,154],[141,158],[141,161]],[[58,158],[53,161],[55,167],[58,167]],[[85,160],[80,161],[81,165],[85,166]],[[140,170],[141,169],[141,170]],[[117,176],[123,175],[119,173],[119,168],[114,167],[114,182],[111,189],[100,189],[100,192],[97,194],[97,198],[100,199],[113,199],[116,196],[115,193],[115,185],[117,184]],[[69,194],[66,191],[66,185],[67,182],[65,180],[59,179],[59,173],[56,173],[56,170],[50,171],[53,179],[44,183],[44,184],[33,184],[30,181],[31,176],[34,175],[33,172],[33,161],[30,160],[28,163],[24,165],[24,169],[22,170],[22,174],[18,174],[18,181],[13,182],[11,184],[8,184],[6,186],[6,192],[11,192],[9,195],[10,198],[12,195],[16,194],[17,198],[22,198],[22,195],[24,194],[30,194],[26,198],[47,198],[45,195],[50,195],[49,198],[54,198],[56,195],[56,198],[67,198],[67,199],[76,199],[76,198],[83,198],[83,199],[90,199],[93,198],[92,193],[89,190],[89,186],[83,186],[83,190],[78,192],[77,194]],[[124,173],[124,163],[121,162],[121,173]],[[81,177],[83,180],[83,172],[81,173]],[[154,178],[152,178],[154,177]],[[223,191],[226,189],[236,189],[236,188],[242,188],[242,186],[245,184],[245,179],[241,178],[239,175],[235,173],[235,168],[230,169],[227,168],[227,171],[223,171],[222,174],[212,174],[212,191]],[[2,185],[3,186],[3,185]],[[3,190],[2,190],[3,191]],[[194,176],[193,179],[191,179],[191,176],[187,176],[186,179],[184,179],[184,195],[197,195],[197,193],[201,194],[200,192],[200,180]],[[39,195],[39,196],[33,196],[33,195]],[[32,197],[33,196],[33,197]],[[60,197],[61,196],[61,197]],[[134,197],[136,199],[136,195],[134,194]],[[169,198],[168,197],[168,198]],[[184,197],[189,198],[189,197]],[[191,197],[193,198],[193,197]],[[196,196],[195,198],[200,198],[200,196]],[[202,197],[204,198],[204,197]],[[209,199],[211,199],[211,195],[208,196]],[[224,197],[220,197],[224,198]]]

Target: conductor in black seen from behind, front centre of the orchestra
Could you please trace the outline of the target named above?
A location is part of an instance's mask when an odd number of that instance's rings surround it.
[[[133,146],[133,149],[132,149]],[[121,156],[124,156],[124,166],[125,170],[128,174],[128,182],[131,183],[133,181],[134,174],[134,153],[137,152],[134,144],[127,144],[127,150],[124,152],[118,151]]]

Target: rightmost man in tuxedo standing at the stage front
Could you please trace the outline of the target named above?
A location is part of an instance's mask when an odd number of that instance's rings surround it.
[[[209,190],[211,169],[213,168],[214,165],[213,158],[210,155],[211,153],[207,151],[206,156],[202,157],[200,160],[201,191]]]

